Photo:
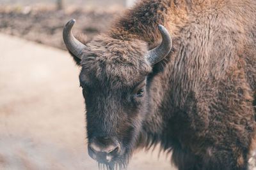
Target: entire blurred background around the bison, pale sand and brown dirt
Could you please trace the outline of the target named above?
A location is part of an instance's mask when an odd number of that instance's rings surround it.
[[[87,153],[77,67],[62,40],[74,18],[86,40],[135,0],[0,0],[0,169],[98,169]],[[128,169],[174,169],[170,155],[134,153]]]

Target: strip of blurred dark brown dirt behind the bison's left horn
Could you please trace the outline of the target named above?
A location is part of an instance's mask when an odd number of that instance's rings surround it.
[[[76,19],[74,34],[85,34],[86,41],[108,30],[115,18],[121,15],[121,6],[67,8],[54,6],[0,6],[0,32],[19,36],[66,50],[62,39],[63,26]]]

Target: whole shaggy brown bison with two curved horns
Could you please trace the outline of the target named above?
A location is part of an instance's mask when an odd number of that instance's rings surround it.
[[[255,0],[142,0],[88,43],[74,23],[63,39],[81,66],[93,159],[122,169],[160,143],[178,169],[248,169]]]

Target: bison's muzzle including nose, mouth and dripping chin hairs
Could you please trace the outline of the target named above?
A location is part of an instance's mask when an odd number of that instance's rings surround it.
[[[99,163],[99,169],[126,169],[127,149],[110,138],[93,138],[88,143],[88,154]]]

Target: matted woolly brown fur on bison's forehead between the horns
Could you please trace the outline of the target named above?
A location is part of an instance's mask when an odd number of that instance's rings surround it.
[[[97,36],[88,43],[81,65],[89,81],[111,87],[133,86],[151,71],[145,60],[147,44]]]

